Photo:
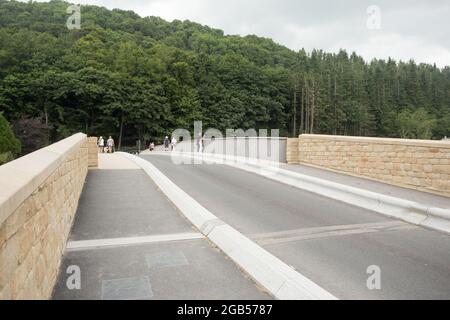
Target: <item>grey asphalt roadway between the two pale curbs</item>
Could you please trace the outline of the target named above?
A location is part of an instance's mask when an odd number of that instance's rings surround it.
[[[450,236],[226,165],[149,155],[175,184],[340,299],[450,299]],[[381,269],[369,290],[367,269]]]

